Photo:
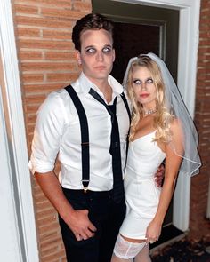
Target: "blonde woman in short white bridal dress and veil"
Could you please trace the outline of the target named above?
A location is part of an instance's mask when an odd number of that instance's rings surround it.
[[[151,261],[178,172],[198,173],[198,137],[193,121],[165,63],[153,53],[129,61],[124,85],[133,118],[125,172],[126,217],[112,256],[117,261]],[[165,161],[162,189],[154,173]],[[182,175],[182,174],[180,174]]]

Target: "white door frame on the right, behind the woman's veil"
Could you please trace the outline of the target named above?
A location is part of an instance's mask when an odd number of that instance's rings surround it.
[[[182,98],[194,116],[200,0],[112,0],[179,10],[179,51],[177,83]],[[179,176],[174,194],[173,224],[182,231],[189,229],[190,177]]]

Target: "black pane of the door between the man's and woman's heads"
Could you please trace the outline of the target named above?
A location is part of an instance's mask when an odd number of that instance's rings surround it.
[[[148,52],[159,55],[159,36],[160,28],[158,26],[115,22],[117,59],[111,75],[122,83],[127,63],[131,58]]]

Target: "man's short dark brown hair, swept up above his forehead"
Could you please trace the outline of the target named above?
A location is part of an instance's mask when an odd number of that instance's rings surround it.
[[[85,17],[77,20],[76,25],[72,31],[72,41],[75,44],[75,49],[81,51],[80,36],[85,30],[99,30],[104,29],[108,31],[113,38],[114,25],[111,20],[101,15],[100,13],[89,13]]]

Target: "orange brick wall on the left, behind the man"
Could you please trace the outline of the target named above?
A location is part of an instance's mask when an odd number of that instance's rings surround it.
[[[12,9],[30,153],[37,108],[79,73],[71,31],[91,12],[91,0],[14,0]],[[40,261],[66,261],[56,211],[33,178],[32,183]]]

